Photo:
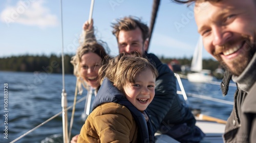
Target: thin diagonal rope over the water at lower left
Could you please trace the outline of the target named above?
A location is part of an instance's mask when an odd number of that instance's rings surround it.
[[[80,103],[80,102],[83,101],[83,100],[86,100],[86,97],[83,97],[83,98],[79,99],[76,103]],[[69,106],[68,108],[65,109],[65,111],[69,110],[69,109],[72,108],[72,107],[73,107],[73,105]],[[57,116],[60,115],[61,113],[62,113],[62,111],[58,112],[57,114],[55,114],[54,116],[52,116],[52,117],[50,117],[48,120],[46,120],[45,122],[43,122],[43,123],[37,125],[35,128],[29,130],[28,132],[26,132],[25,134],[23,134],[23,135],[19,136],[18,138],[14,139],[14,140],[11,141],[10,143],[13,143],[13,142],[19,140],[20,138],[26,136],[27,134],[29,134],[29,133],[33,132],[34,130],[36,130],[37,128],[41,127],[42,125],[45,125],[46,123],[48,123],[49,121],[53,120],[53,118],[57,117]]]

